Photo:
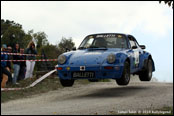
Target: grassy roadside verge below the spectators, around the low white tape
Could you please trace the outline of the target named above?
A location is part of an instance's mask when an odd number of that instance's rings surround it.
[[[32,79],[21,80],[21,81],[19,81],[19,83],[20,83],[19,85],[9,84],[6,86],[6,88],[27,87],[28,85],[32,84],[38,78],[39,77],[35,76]],[[75,83],[77,83],[77,84],[89,84],[88,80],[76,80]],[[60,84],[59,78],[57,77],[57,75],[52,74],[32,88],[18,90],[18,91],[3,91],[3,92],[1,92],[1,103],[7,102],[10,100],[27,98],[27,97],[30,97],[32,95],[46,93],[46,92],[49,92],[52,90],[58,90],[61,88],[63,88],[63,86]]]

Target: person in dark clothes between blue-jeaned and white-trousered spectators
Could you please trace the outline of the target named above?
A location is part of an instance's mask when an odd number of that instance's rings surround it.
[[[20,49],[20,53],[24,54],[24,49]],[[26,59],[25,55],[21,55],[21,60],[25,60],[25,59]],[[25,78],[25,72],[26,72],[26,62],[24,61],[20,63],[18,81],[23,80]]]

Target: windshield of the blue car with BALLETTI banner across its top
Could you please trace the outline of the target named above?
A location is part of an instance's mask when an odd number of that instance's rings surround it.
[[[120,34],[90,35],[79,46],[79,49],[85,48],[127,48],[127,42]]]

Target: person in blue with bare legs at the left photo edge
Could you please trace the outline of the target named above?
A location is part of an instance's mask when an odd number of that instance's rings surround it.
[[[1,60],[8,60],[7,53],[6,52],[7,46],[5,44],[2,45],[1,48]],[[6,86],[7,81],[11,81],[12,76],[10,73],[10,68],[7,66],[7,61],[1,61],[1,87],[4,88]]]

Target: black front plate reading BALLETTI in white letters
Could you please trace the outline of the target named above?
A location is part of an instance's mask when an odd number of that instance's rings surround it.
[[[72,73],[73,78],[94,78],[95,73],[94,72],[73,72]]]

